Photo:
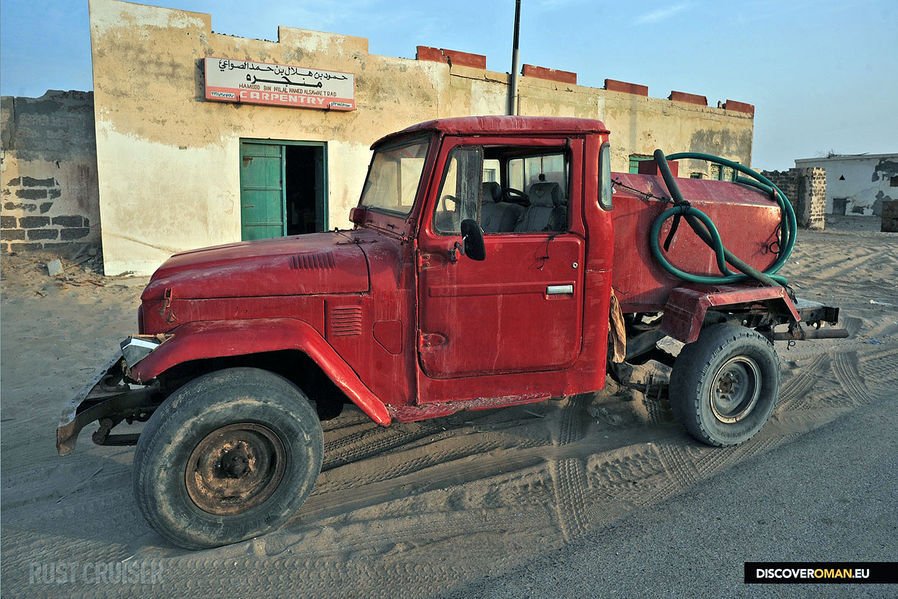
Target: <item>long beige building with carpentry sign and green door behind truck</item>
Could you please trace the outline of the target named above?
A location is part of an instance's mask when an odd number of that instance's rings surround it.
[[[432,118],[507,110],[509,75],[476,54],[378,56],[364,38],[288,27],[277,42],[245,39],[212,32],[207,14],[116,0],[90,1],[90,35],[107,274],[147,274],[200,246],[348,227],[372,141]],[[235,73],[245,74],[245,100],[288,106],[234,101],[233,77],[219,79]],[[751,163],[751,105],[650,98],[610,80],[584,87],[575,73],[531,65],[523,75],[519,114],[603,120],[616,170],[656,147]],[[276,213],[260,209],[262,197],[279,198]]]

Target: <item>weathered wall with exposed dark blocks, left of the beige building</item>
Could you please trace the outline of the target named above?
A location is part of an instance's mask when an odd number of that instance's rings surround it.
[[[90,92],[0,98],[0,249],[71,251],[100,232]]]

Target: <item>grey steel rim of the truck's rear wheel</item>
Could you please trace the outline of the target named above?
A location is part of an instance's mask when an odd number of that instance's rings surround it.
[[[732,424],[751,414],[761,397],[761,368],[747,356],[724,362],[711,381],[709,403],[719,421]]]

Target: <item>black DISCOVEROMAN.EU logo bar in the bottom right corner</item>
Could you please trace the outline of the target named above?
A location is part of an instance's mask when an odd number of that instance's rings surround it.
[[[896,584],[898,562],[745,562],[745,582]]]

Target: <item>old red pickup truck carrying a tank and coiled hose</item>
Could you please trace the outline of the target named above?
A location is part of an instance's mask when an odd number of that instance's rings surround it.
[[[388,426],[595,392],[656,359],[686,430],[732,445],[775,406],[774,339],[843,335],[773,274],[794,215],[769,181],[676,179],[663,154],[612,173],[587,119],[441,119],[373,151],[352,230],[159,267],[139,334],[65,410],[62,455],[94,421],[94,442],[137,445],[138,506],[171,542],[280,525],[348,402]]]

